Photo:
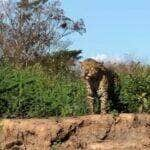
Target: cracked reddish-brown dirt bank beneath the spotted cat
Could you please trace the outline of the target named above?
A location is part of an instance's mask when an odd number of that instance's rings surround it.
[[[1,120],[0,149],[149,150],[150,115]]]

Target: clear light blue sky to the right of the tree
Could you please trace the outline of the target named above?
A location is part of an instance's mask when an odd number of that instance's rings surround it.
[[[71,36],[71,48],[86,57],[122,58],[150,63],[150,0],[62,0],[67,15],[83,18],[87,32]]]

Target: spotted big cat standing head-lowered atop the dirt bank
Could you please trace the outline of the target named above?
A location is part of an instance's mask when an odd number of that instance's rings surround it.
[[[97,97],[100,100],[100,112],[108,111],[108,88],[109,76],[108,70],[103,63],[97,62],[94,59],[86,59],[81,62],[82,77],[87,88],[87,103],[90,113],[94,113],[94,99]]]

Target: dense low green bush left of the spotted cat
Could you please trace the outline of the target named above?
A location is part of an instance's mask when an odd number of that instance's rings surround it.
[[[82,115],[85,94],[84,84],[69,73],[48,75],[39,64],[18,70],[0,65],[1,117]]]

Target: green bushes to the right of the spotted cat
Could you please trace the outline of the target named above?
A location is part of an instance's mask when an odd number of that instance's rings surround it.
[[[150,112],[150,66],[139,62],[109,64],[119,77],[112,95],[111,111]],[[117,97],[116,97],[117,96]]]

